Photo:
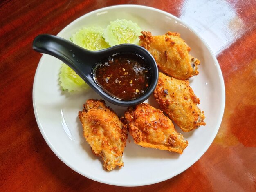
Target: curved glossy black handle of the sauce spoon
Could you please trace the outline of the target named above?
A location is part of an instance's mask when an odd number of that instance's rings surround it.
[[[33,41],[33,49],[60,59],[86,83],[95,86],[91,77],[92,67],[98,61],[95,51],[83,49],[64,38],[48,34],[38,35]]]

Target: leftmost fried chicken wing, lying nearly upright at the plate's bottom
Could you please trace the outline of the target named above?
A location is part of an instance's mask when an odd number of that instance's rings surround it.
[[[123,152],[126,146],[127,125],[119,120],[117,114],[106,107],[105,101],[89,99],[78,116],[83,125],[83,136],[96,156],[103,160],[106,170],[123,166]]]

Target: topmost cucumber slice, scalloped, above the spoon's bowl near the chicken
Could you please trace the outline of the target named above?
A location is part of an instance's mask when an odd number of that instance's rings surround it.
[[[132,21],[125,19],[111,21],[110,25],[104,30],[103,38],[110,45],[122,43],[139,44],[138,36],[141,35],[141,28]]]

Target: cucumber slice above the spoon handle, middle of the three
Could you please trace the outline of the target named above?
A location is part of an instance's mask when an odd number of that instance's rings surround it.
[[[80,47],[96,51],[109,47],[102,34],[103,29],[101,27],[84,27],[76,32],[70,40]]]

